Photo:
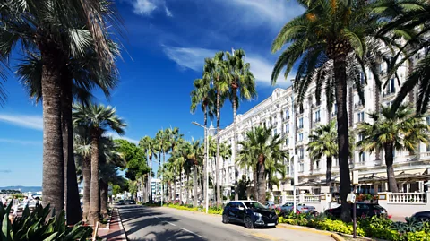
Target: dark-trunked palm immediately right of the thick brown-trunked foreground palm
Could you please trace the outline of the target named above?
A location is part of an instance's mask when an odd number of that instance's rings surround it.
[[[112,51],[119,55],[117,46],[111,44]],[[73,157],[73,125],[72,125],[72,102],[73,99],[89,105],[92,95],[90,91],[95,86],[102,90],[106,97],[109,97],[109,90],[116,86],[116,73],[99,73],[99,63],[94,51],[80,59],[70,59],[67,65],[67,80],[62,82],[61,108],[62,108],[62,135],[64,150],[64,193],[65,210],[70,212],[67,215],[67,223],[75,224],[82,219],[80,212],[79,191],[76,180],[76,167]],[[39,102],[42,99],[42,60],[39,54],[26,56],[18,66],[17,72],[21,76],[20,81],[27,89],[31,99]],[[65,78],[64,78],[65,79]]]

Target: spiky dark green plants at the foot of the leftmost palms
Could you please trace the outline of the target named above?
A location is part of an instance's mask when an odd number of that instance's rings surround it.
[[[12,203],[12,202],[11,202]],[[58,218],[49,215],[49,205],[43,208],[39,205],[30,213],[28,207],[22,212],[22,217],[9,219],[12,204],[4,209],[0,206],[0,223],[2,241],[74,241],[90,237],[92,228],[76,224],[72,228],[65,225],[65,213],[62,211]]]

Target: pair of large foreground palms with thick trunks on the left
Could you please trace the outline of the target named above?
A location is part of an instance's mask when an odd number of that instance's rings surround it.
[[[42,101],[43,201],[57,215],[65,207],[69,224],[82,219],[76,211],[80,198],[73,157],[73,100],[88,104],[96,87],[108,96],[116,86],[119,45],[108,28],[116,26],[110,30],[121,32],[117,17],[110,0],[18,0],[3,1],[0,7],[0,77],[6,80],[10,68],[15,68],[30,98]],[[21,57],[11,62],[14,54]],[[98,141],[93,141],[97,149]],[[97,175],[95,170],[93,174]],[[90,212],[95,217],[97,211]]]

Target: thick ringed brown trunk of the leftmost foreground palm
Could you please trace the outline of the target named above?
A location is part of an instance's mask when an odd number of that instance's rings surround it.
[[[39,47],[43,105],[43,202],[58,216],[64,210],[64,152],[61,128],[61,56],[55,49]],[[44,49],[46,48],[46,49]],[[56,48],[56,47],[53,47]]]

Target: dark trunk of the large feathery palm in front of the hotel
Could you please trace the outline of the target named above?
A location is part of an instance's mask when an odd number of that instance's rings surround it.
[[[345,222],[351,220],[350,204],[347,195],[351,192],[349,176],[349,136],[348,136],[348,112],[347,112],[347,61],[346,55],[340,54],[334,59],[334,79],[336,82],[336,104],[338,105],[338,148],[340,169],[340,199],[342,211],[340,219]]]

